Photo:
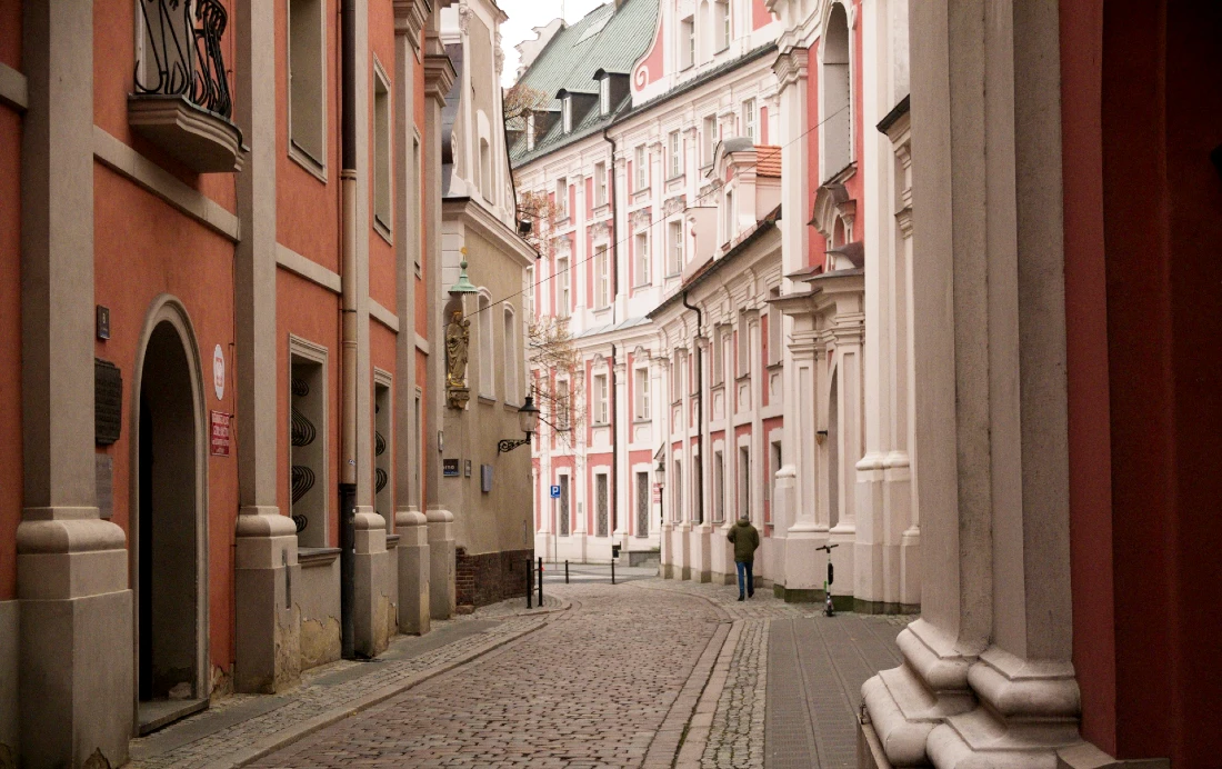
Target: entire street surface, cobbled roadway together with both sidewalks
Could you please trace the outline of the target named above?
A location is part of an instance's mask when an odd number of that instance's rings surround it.
[[[853,767],[862,682],[912,619],[656,578],[546,589],[543,614],[507,602],[221,699],[133,742],[132,765]]]

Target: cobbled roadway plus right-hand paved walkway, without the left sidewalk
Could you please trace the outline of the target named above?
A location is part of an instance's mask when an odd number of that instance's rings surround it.
[[[860,685],[898,660],[899,617],[819,617],[764,591],[546,591],[567,609],[539,630],[253,765],[852,767]],[[137,765],[209,763],[181,756]]]

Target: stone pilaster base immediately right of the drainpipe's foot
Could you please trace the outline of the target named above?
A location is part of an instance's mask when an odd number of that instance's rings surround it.
[[[386,518],[368,507],[358,509],[356,527],[356,568],[352,605],[353,650],[357,657],[374,658],[386,650],[390,628],[386,617],[390,597],[386,584]]]

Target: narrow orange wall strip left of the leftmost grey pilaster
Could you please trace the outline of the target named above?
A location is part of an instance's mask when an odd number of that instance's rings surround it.
[[[12,0],[0,1],[0,60]],[[11,50],[11,48],[9,49]],[[7,61],[6,61],[7,64]],[[21,119],[0,106],[0,600],[17,594],[21,446]]]

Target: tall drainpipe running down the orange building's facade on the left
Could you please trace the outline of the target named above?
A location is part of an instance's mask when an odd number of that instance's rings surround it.
[[[341,92],[341,403],[340,430],[340,622],[341,654],[356,657],[357,515],[357,0],[343,0]]]

